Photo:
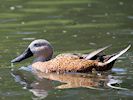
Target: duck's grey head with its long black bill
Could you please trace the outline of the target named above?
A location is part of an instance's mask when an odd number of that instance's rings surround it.
[[[53,55],[53,48],[51,44],[44,39],[34,40],[20,56],[16,57],[11,62],[20,62],[33,55],[36,57],[35,61],[47,61],[51,59]]]

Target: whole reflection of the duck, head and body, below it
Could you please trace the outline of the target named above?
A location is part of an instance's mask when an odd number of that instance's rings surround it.
[[[119,83],[112,76],[97,75],[97,74],[81,74],[81,73],[42,73],[42,72],[29,72],[25,70],[12,71],[12,76],[15,81],[22,84],[23,88],[28,89],[39,99],[48,96],[48,91],[52,89],[66,89],[66,88],[90,88],[90,89],[106,89],[109,82],[111,84]],[[61,82],[61,85],[56,84]]]

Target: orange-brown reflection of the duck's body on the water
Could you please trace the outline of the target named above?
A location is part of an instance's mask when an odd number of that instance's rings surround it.
[[[36,75],[39,78],[45,78],[64,83],[62,85],[55,87],[56,89],[78,88],[78,87],[98,89],[101,86],[105,86],[105,83],[107,81],[106,76],[96,76],[96,75],[81,74],[81,73],[55,74],[55,73],[37,72]]]

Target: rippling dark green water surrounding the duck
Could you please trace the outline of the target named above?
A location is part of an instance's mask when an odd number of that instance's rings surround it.
[[[45,79],[49,75],[41,74],[40,79],[18,70],[29,65],[33,58],[15,64],[14,68],[10,60],[38,38],[52,43],[54,55],[86,53],[108,44],[112,47],[106,53],[117,52],[133,44],[132,9],[132,0],[0,0],[0,100],[131,100],[132,48],[117,60],[111,73],[102,77],[51,75],[55,76],[55,81],[51,81]],[[15,80],[11,69],[18,70],[15,75],[21,77]],[[87,81],[89,86],[60,80],[77,88],[55,89],[61,85],[57,81],[60,78],[72,78],[77,83]],[[124,89],[109,87],[111,82]]]

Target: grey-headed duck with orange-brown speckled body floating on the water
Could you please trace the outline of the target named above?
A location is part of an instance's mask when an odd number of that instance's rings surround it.
[[[112,55],[100,54],[108,47],[110,45],[89,54],[62,53],[52,58],[53,46],[50,42],[45,39],[37,39],[32,41],[22,54],[11,60],[11,63],[21,62],[34,56],[32,68],[43,73],[107,71],[113,67],[118,57],[127,52],[131,45]]]

